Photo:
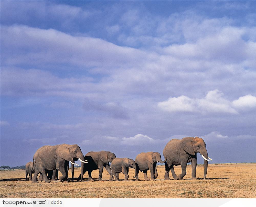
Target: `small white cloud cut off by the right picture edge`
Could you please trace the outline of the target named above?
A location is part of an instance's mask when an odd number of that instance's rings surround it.
[[[255,109],[256,107],[256,97],[252,96],[251,94],[246,96],[241,96],[239,99],[234,100],[232,105],[235,108],[242,109],[242,110],[250,110],[252,108]]]

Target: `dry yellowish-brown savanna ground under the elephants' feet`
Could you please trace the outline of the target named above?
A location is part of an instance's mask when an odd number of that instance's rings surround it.
[[[191,180],[191,166],[187,166],[184,180],[165,181],[164,166],[158,166],[156,181],[144,181],[139,173],[139,181],[134,181],[134,169],[130,168],[129,181],[119,174],[120,181],[109,182],[108,172],[104,169],[102,179],[98,170],[88,182],[88,173],[82,182],[61,183],[44,181],[32,184],[25,181],[25,170],[0,171],[0,198],[256,198],[255,163],[209,164],[207,179]],[[175,167],[176,174],[181,167]],[[78,177],[80,168],[75,168],[74,177]],[[204,166],[197,166],[197,177],[202,178]],[[69,171],[71,177],[71,170]],[[150,172],[148,171],[150,178]]]

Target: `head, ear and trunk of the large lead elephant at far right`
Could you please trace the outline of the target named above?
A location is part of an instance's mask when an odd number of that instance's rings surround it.
[[[181,147],[190,155],[195,155],[195,153],[200,153],[204,158],[204,179],[207,174],[208,167],[208,152],[206,150],[205,142],[199,137],[185,137],[182,139]],[[211,159],[211,158],[209,158]]]

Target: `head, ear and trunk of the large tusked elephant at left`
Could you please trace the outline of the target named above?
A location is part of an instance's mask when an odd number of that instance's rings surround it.
[[[67,145],[62,144],[56,149],[56,154],[58,157],[70,161],[72,164],[76,164],[74,160],[81,161],[81,175],[83,175],[84,163],[87,163],[87,160],[84,160],[83,153],[78,145]],[[81,176],[80,181],[82,181],[83,176]]]

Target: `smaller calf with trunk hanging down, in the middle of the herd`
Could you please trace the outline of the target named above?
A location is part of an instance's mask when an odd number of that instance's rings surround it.
[[[115,158],[115,159],[113,159],[110,168],[111,168],[111,174],[110,174],[109,181],[112,181],[113,176],[115,176],[115,180],[119,181],[119,177],[118,177],[119,172],[124,173],[124,175],[125,175],[124,180],[128,181],[129,168],[135,169],[135,176],[133,178],[135,178],[137,175],[136,164],[133,159]]]

